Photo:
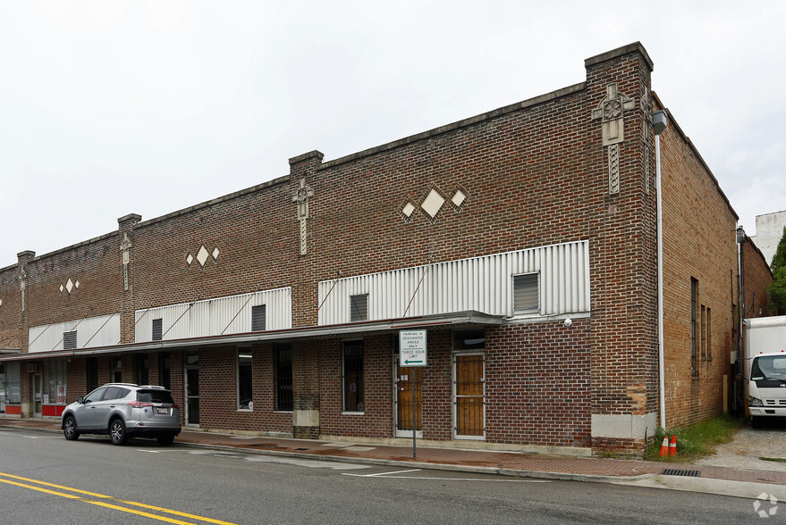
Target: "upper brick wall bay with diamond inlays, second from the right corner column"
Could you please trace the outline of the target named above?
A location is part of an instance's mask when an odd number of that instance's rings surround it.
[[[296,273],[294,190],[273,181],[258,191],[195,206],[134,230],[134,309],[292,285]],[[219,249],[204,267],[186,262],[200,246]],[[313,307],[309,305],[309,307]],[[131,342],[131,341],[128,341]]]

